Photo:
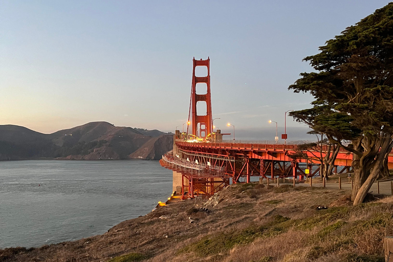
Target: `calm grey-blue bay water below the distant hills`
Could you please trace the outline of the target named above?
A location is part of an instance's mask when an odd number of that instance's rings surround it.
[[[171,194],[158,161],[0,162],[0,248],[102,234]]]

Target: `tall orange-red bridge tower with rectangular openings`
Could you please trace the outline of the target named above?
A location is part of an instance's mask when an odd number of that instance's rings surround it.
[[[191,86],[191,125],[192,135],[206,138],[213,132],[212,115],[211,115],[211,96],[210,96],[210,58],[207,60],[192,59],[192,86]],[[195,76],[196,67],[207,67],[207,76]],[[197,83],[206,83],[207,93],[197,94]],[[200,101],[206,102],[206,115],[197,114],[197,103]]]

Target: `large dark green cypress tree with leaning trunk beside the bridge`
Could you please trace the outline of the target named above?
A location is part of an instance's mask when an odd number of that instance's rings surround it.
[[[314,96],[313,107],[290,113],[354,153],[354,204],[363,201],[393,146],[393,3],[346,28],[305,57],[316,72],[289,89]],[[351,140],[345,146],[342,140]]]

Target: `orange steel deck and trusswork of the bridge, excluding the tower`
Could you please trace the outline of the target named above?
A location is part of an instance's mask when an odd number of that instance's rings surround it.
[[[203,159],[206,159],[213,165],[224,166],[224,173],[232,178],[232,183],[237,183],[241,177],[246,178],[248,182],[252,176],[263,178],[294,177],[303,180],[304,177],[315,176],[320,169],[318,164],[290,157],[296,152],[297,145],[189,143],[181,140],[176,141],[176,144],[187,154],[201,154],[198,156],[201,163],[205,162]],[[308,155],[310,159],[315,158],[311,153]],[[325,156],[325,152],[322,152],[322,156]],[[214,158],[222,159],[214,160]],[[391,162],[393,162],[393,155],[389,156],[389,163]],[[347,171],[351,164],[352,154],[344,150],[340,151],[334,163],[335,171],[337,172],[337,166],[344,166],[342,171]],[[310,169],[309,174],[305,174],[304,169],[306,168]]]

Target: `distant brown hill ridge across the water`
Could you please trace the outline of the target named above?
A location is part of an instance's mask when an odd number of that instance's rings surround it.
[[[90,122],[52,134],[23,126],[0,125],[0,160],[23,159],[149,159],[172,149],[173,135],[159,130]],[[136,151],[143,154],[135,154]]]

